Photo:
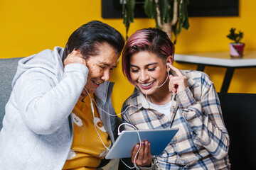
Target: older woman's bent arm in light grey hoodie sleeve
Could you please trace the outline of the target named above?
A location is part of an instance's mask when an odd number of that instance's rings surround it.
[[[14,88],[24,123],[38,134],[51,134],[63,125],[85,86],[88,69],[84,64],[68,64],[58,84],[53,74],[44,69],[27,71]]]

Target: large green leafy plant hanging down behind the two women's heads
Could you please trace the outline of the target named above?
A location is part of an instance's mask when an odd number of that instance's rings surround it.
[[[134,22],[134,6],[136,0],[122,0],[122,14],[124,25],[129,30],[130,23]],[[171,39],[181,33],[181,29],[189,28],[187,6],[189,0],[145,0],[144,13],[148,18],[154,18],[156,28],[163,29]],[[176,39],[174,40],[176,43]]]

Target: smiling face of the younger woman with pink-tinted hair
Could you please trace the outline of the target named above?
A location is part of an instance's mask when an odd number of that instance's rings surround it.
[[[151,52],[137,52],[130,59],[132,82],[143,94],[154,86],[161,86],[166,79],[166,64]],[[155,94],[159,88],[151,89],[147,95]]]

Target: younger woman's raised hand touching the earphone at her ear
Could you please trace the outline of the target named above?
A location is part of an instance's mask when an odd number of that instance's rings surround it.
[[[188,86],[187,79],[185,76],[183,76],[183,74],[181,74],[181,71],[179,71],[179,69],[177,69],[171,64],[169,65],[169,67],[176,74],[171,74],[169,76],[169,91],[172,91],[174,94],[176,94],[179,91],[186,89],[186,87]]]

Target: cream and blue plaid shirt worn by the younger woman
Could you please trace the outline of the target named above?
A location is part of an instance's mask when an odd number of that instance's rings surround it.
[[[122,111],[127,109],[122,114],[124,123],[138,129],[179,128],[164,152],[154,156],[154,169],[230,169],[230,139],[213,82],[203,72],[181,73],[187,77],[188,87],[174,96],[170,120],[135,88],[122,106]]]

